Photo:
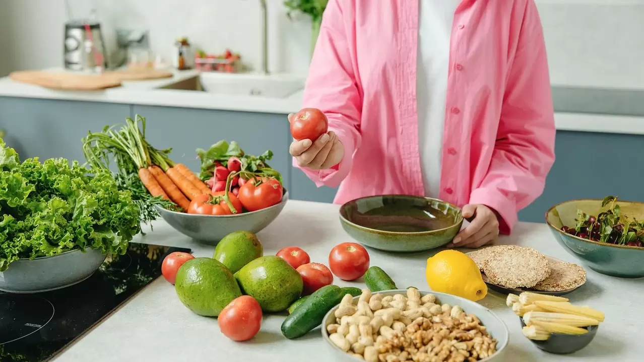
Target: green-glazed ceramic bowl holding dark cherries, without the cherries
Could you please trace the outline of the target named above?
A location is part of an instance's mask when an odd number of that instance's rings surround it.
[[[621,212],[632,219],[644,219],[644,203],[618,201]],[[601,200],[571,200],[556,204],[545,213],[545,222],[550,226],[554,239],[564,249],[582,260],[592,270],[620,278],[644,276],[644,248],[615,245],[582,239],[564,233],[562,226],[574,226],[577,210],[596,216],[601,212]]]

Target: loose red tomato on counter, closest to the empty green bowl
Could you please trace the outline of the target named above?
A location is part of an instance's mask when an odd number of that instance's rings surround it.
[[[328,266],[342,280],[356,280],[369,269],[369,253],[355,242],[343,242],[331,249]]]

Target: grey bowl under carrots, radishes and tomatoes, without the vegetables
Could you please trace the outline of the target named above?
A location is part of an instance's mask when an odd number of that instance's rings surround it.
[[[244,230],[258,233],[278,217],[288,200],[289,193],[285,189],[279,204],[236,215],[196,215],[193,213],[174,212],[160,206],[156,206],[156,210],[176,231],[204,244],[216,245],[219,240],[222,240],[232,231]]]

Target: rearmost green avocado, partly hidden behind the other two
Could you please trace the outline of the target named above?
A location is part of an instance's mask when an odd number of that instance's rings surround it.
[[[237,273],[251,260],[261,257],[264,250],[257,235],[249,231],[229,233],[214,248],[213,259]]]

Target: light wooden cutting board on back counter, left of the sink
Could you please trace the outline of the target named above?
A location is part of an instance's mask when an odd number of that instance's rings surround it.
[[[124,80],[170,78],[170,71],[155,69],[106,71],[101,74],[71,73],[66,71],[15,71],[9,78],[16,82],[68,91],[97,91],[118,87]]]

